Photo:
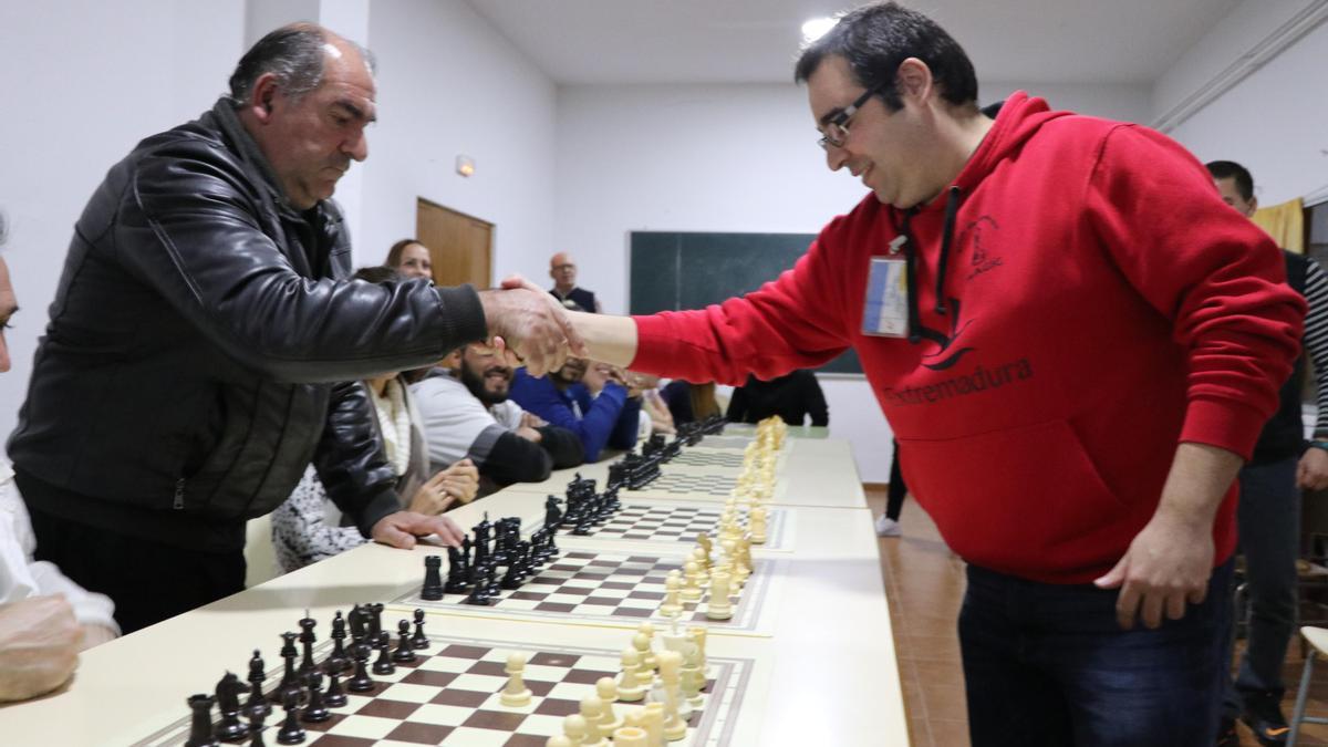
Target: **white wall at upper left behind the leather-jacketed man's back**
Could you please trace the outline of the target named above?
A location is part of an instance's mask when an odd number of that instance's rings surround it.
[[[13,431],[74,221],[141,138],[193,120],[226,90],[242,52],[236,1],[0,3],[0,205],[21,311],[0,375],[0,440]]]

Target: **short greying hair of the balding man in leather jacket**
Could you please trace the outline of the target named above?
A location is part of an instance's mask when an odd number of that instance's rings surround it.
[[[267,73],[276,76],[278,86],[295,101],[323,82],[323,64],[327,57],[329,32],[317,24],[297,23],[270,32],[240,57],[231,73],[231,101],[244,105],[254,93],[258,78]],[[359,44],[353,45],[369,73],[374,70],[373,54]]]

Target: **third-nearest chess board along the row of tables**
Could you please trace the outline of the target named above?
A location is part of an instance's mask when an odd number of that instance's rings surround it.
[[[559,537],[576,537],[576,540],[622,540],[645,542],[696,542],[699,534],[714,536],[714,526],[720,522],[722,509],[716,504],[645,504],[623,502],[623,508],[604,524],[591,529],[591,534],[570,534],[567,529],[559,532]],[[740,512],[742,513],[742,512]],[[740,520],[746,526],[746,517]],[[752,545],[753,550],[791,550],[793,532],[791,517],[786,509],[772,508],[766,513],[766,540],[761,545]],[[527,528],[527,534],[542,526],[542,521],[534,521]]]

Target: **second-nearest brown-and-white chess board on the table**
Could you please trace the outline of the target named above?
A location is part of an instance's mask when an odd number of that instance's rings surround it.
[[[489,606],[466,605],[462,602],[465,594],[444,594],[440,601],[422,599],[420,586],[392,601],[434,613],[542,619],[562,625],[636,627],[645,619],[659,626],[669,623],[659,606],[664,601],[668,572],[683,568],[685,558],[681,554],[579,548],[564,534],[558,536],[558,544],[562,552],[556,560],[521,589],[501,589]],[[774,580],[781,574],[784,561],[753,558],[752,562],[756,568],[733,603],[730,619],[705,617],[709,603],[709,589],[705,589],[700,602],[685,605],[679,623],[704,623],[714,631],[773,635],[773,621],[762,611],[774,607],[770,597],[777,589]]]

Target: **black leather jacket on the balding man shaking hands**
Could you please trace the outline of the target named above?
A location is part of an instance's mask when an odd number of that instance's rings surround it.
[[[355,381],[485,336],[474,288],[348,280],[223,98],[110,169],[74,227],[8,452],[35,509],[228,552],[313,460],[361,532],[400,509]]]

